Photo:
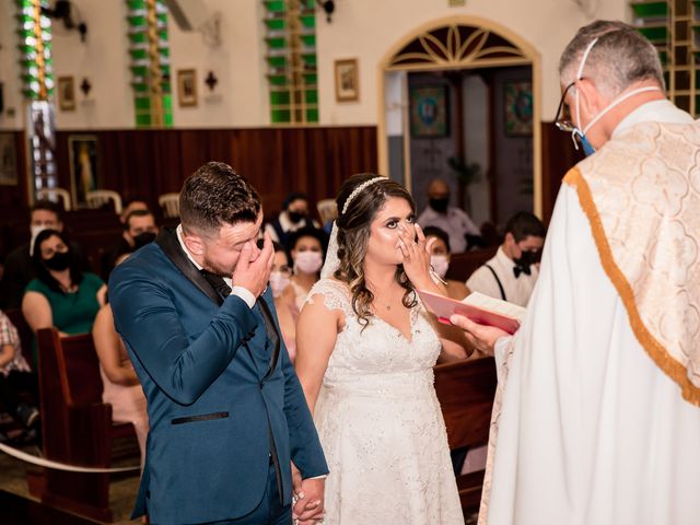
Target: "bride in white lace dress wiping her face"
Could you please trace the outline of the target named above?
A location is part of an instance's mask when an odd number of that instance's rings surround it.
[[[462,525],[433,387],[441,340],[413,290],[445,291],[416,206],[371,174],[346,180],[337,203],[296,329],[296,373],[330,469],[324,524]],[[444,350],[466,357],[454,343]]]

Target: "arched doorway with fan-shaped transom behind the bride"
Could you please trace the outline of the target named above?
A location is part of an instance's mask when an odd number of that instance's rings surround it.
[[[508,73],[509,71],[513,74]],[[505,109],[505,104],[509,104],[503,101],[511,96],[512,102],[512,95],[509,95],[503,89],[503,85],[506,84],[503,84],[502,79],[508,79],[509,74],[517,77],[523,72],[527,73],[527,79],[521,85],[527,85],[529,89],[527,92],[529,103],[527,112],[532,117],[529,125],[526,129],[518,131],[522,140],[511,141],[521,144],[517,154],[494,153],[493,137],[495,131],[492,127],[498,126],[499,132],[502,133],[503,122],[500,117],[495,119],[493,110],[491,110],[488,118],[483,115],[479,117],[483,128],[478,129],[478,126],[474,126],[475,122],[480,121],[475,115],[478,112],[472,112],[470,115],[471,127],[465,129],[466,125],[462,119],[465,115],[465,101],[466,104],[477,104],[478,107],[482,105],[472,100],[469,86],[465,84],[474,84],[477,89],[477,95],[481,90],[480,92],[485,93],[480,95],[483,97],[483,104],[490,103],[491,107],[500,104],[498,107],[502,113]],[[419,207],[420,200],[423,198],[424,178],[428,175],[424,175],[423,179],[419,179],[420,184],[415,184],[417,174],[411,172],[411,166],[418,160],[424,160],[427,156],[429,159],[438,158],[435,162],[444,170],[444,165],[451,163],[445,158],[447,154],[445,148],[448,149],[450,145],[443,145],[441,150],[441,148],[435,148],[435,144],[452,143],[454,144],[454,153],[450,156],[462,161],[463,167],[470,167],[472,164],[482,167],[480,186],[470,187],[463,194],[466,195],[464,199],[466,199],[467,208],[469,208],[469,195],[472,195],[471,198],[476,201],[477,208],[480,207],[477,210],[479,218],[483,219],[488,215],[488,220],[498,219],[499,222],[506,219],[501,217],[504,212],[500,215],[498,213],[497,190],[503,191],[504,189],[497,188],[497,177],[494,177],[494,165],[501,162],[502,168],[503,159],[520,163],[518,168],[527,166],[526,180],[523,182],[526,188],[513,188],[512,191],[526,191],[527,196],[523,198],[527,199],[528,208],[532,206],[534,212],[541,215],[541,130],[539,125],[541,80],[539,55],[533,46],[510,30],[491,21],[475,16],[454,16],[427,23],[401,38],[380,62],[378,73],[377,149],[380,170],[381,173],[389,175],[411,189],[419,201]],[[489,80],[493,78],[500,79],[498,90],[493,89],[493,85],[487,85],[493,83]],[[486,79],[486,82],[479,79]],[[441,84],[447,86],[446,94],[451,95],[445,97],[447,102],[440,101],[444,95],[440,94],[441,90],[438,89],[435,107],[429,107],[430,112],[428,113],[431,116],[433,114],[439,116],[441,104],[448,105],[447,117],[455,117],[455,121],[446,125],[450,129],[450,140],[444,139],[445,127],[438,126],[432,131],[429,130],[429,133],[432,132],[436,136],[442,133],[442,142],[440,140],[421,141],[420,139],[417,141],[416,137],[420,137],[421,131],[416,127],[416,113],[421,98],[416,93],[421,91],[417,89],[417,85],[420,86],[421,83],[434,84],[438,88]],[[511,89],[516,84],[517,82],[510,82],[506,86]],[[455,86],[458,88],[455,89]],[[498,100],[495,95],[498,95]],[[469,112],[468,107],[466,107],[466,112]],[[475,118],[476,120],[474,120]],[[510,126],[508,121],[505,125]],[[481,145],[479,145],[479,141],[482,142]],[[418,148],[417,144],[419,144]],[[486,158],[481,162],[471,162],[471,158],[478,158],[479,154],[488,155],[492,162]],[[500,159],[499,155],[501,155]],[[512,156],[526,159],[525,161],[523,159],[513,160]],[[429,170],[422,170],[419,166],[418,171],[422,173]],[[511,191],[510,188],[506,190]],[[458,202],[464,205],[464,199],[459,199]],[[470,210],[468,209],[468,211]]]

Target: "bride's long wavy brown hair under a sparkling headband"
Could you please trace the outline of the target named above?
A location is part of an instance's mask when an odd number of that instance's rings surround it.
[[[350,288],[352,310],[363,327],[366,327],[370,323],[369,317],[372,316],[370,305],[374,301],[374,294],[366,285],[362,268],[368,254],[372,221],[374,221],[377,212],[384,208],[386,200],[390,197],[406,200],[410,205],[412,212],[416,213],[416,202],[413,202],[411,195],[404,186],[389,178],[372,183],[355,195],[343,213],[342,209],[350,194],[361,184],[377,176],[373,173],[352,175],[342,184],[336,198],[336,203],[338,205],[336,226],[338,230],[339,265],[334,277],[339,281],[346,282]],[[402,265],[396,267],[395,279],[406,290],[401,300],[404,306],[407,308],[416,306],[416,292],[404,271]]]

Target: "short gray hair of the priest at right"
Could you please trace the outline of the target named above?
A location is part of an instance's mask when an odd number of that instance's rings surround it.
[[[664,73],[653,44],[631,25],[605,20],[581,27],[564,49],[559,61],[563,85],[576,80],[583,54],[596,38],[581,75],[591,79],[606,96],[614,97],[644,80],[654,80],[664,89]]]

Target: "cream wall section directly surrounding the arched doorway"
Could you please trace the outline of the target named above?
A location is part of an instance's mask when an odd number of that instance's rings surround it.
[[[606,0],[595,18],[626,20],[628,2]],[[332,22],[317,18],[319,98],[322,124],[376,124],[380,63],[399,40],[421,25],[450,16],[477,16],[508,27],[541,56],[542,104],[540,118],[553,119],[560,97],[559,56],[576,30],[591,21],[572,0],[467,0],[450,8],[447,0],[337,0]],[[358,58],[360,101],[337,103],[334,61]]]

